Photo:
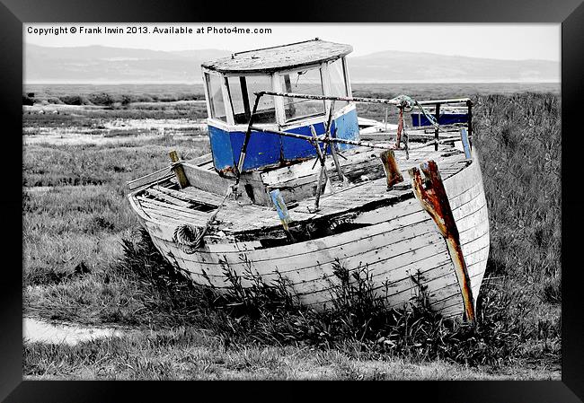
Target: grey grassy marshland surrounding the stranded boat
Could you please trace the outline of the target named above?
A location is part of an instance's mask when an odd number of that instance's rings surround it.
[[[304,312],[300,323],[297,311],[277,310],[271,319],[214,311],[205,295],[175,278],[155,256],[125,199],[125,182],[164,167],[170,150],[185,158],[208,152],[196,126],[206,115],[200,89],[37,85],[24,89],[38,102],[23,107],[22,115],[24,313],[139,331],[78,346],[26,344],[23,374],[33,379],[558,379],[559,86],[353,87],[359,96],[406,93],[475,101],[473,145],[481,156],[491,225],[486,275],[491,279],[479,298],[484,325],[471,335],[478,339],[443,329],[430,318],[420,331],[444,332],[439,334],[452,343],[386,347],[373,331],[360,339],[350,331],[328,334],[338,317]],[[359,116],[381,119],[385,110],[360,109]],[[131,120],[139,118],[155,121],[142,127]],[[294,329],[282,330],[288,326]],[[323,329],[311,329],[319,326]],[[462,357],[462,348],[454,346],[461,340],[470,352]],[[440,346],[448,351],[440,353]]]

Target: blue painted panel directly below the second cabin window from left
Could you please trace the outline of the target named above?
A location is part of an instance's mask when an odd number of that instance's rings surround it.
[[[242,152],[245,133],[231,132],[230,136],[233,160],[237,164],[239,162],[239,154]],[[243,171],[278,163],[281,146],[279,136],[252,131],[250,143],[247,145],[245,162],[243,162]]]

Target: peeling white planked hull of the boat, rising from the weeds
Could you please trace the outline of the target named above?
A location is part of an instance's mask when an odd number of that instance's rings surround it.
[[[444,180],[444,186],[476,303],[489,255],[489,219],[476,154],[465,169]],[[281,277],[301,303],[320,309],[331,304],[333,289],[341,281],[335,267],[341,264],[350,271],[367,270],[376,295],[385,298],[388,307],[407,305],[421,285],[433,310],[447,318],[464,315],[447,243],[413,194],[358,215],[354,223],[362,226],[357,229],[271,248],[259,241],[206,243],[193,253],[173,241],[174,225],[137,212],[156,248],[199,285],[225,289],[230,285],[226,271],[239,276],[243,286],[252,285],[254,277],[268,285]]]

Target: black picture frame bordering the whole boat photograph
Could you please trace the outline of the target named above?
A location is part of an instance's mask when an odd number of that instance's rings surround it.
[[[286,13],[276,12],[286,10]],[[203,390],[214,393],[210,399],[317,398],[305,385],[279,382],[278,394],[270,386],[235,385],[224,387],[200,382],[128,381],[22,381],[22,272],[18,250],[22,250],[22,181],[14,172],[22,165],[22,23],[24,22],[555,22],[562,23],[562,381],[409,381],[369,386],[313,383],[328,399],[332,395],[357,391],[358,399],[398,399],[398,391],[408,398],[448,402],[577,402],[584,399],[584,315],[580,299],[579,207],[581,136],[580,97],[584,90],[584,4],[581,0],[431,1],[376,3],[327,0],[295,2],[279,8],[274,2],[254,2],[223,6],[217,2],[195,3],[181,0],[2,0],[0,4],[0,57],[2,86],[0,102],[4,127],[4,191],[0,195],[3,216],[2,245],[4,264],[0,286],[0,399],[23,401],[119,401],[172,399],[183,393],[188,399],[209,399]],[[387,40],[387,39],[385,39]],[[581,157],[580,157],[581,158]],[[271,385],[273,386],[273,385]],[[316,386],[317,388],[314,388]],[[256,390],[252,392],[251,389]],[[286,393],[286,392],[290,393]],[[296,392],[296,393],[295,393]],[[122,398],[124,396],[126,398]],[[310,396],[309,396],[310,395]],[[400,398],[404,399],[404,398]],[[173,399],[174,400],[174,399]]]

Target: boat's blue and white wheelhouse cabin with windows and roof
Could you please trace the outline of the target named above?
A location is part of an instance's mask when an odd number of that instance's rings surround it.
[[[255,101],[254,92],[296,92],[351,96],[345,57],[350,45],[321,39],[261,48],[204,63],[208,133],[217,171],[230,176],[237,166]],[[323,135],[332,101],[263,96],[253,125],[289,133]],[[335,101],[331,133],[358,140],[355,104]],[[339,145],[339,149],[351,145]],[[252,131],[243,171],[265,170],[313,158],[314,145],[302,139]]]

